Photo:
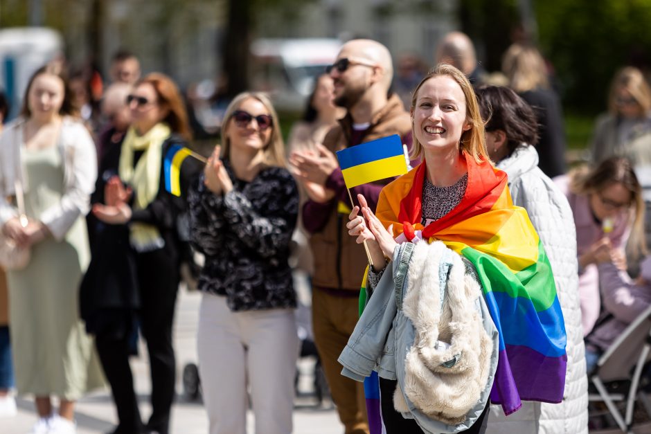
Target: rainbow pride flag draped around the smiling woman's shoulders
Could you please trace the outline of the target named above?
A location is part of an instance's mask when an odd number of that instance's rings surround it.
[[[380,193],[377,217],[394,236],[440,239],[476,267],[499,331],[499,361],[490,399],[509,415],[521,400],[563,399],[567,354],[565,325],[542,243],[524,208],[513,206],[506,173],[476,163],[464,152],[468,183],[461,203],[445,217],[421,222],[427,168],[404,174]]]

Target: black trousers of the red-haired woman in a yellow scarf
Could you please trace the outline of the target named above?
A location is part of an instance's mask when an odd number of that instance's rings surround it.
[[[141,296],[140,327],[147,343],[152,379],[148,431],[168,434],[175,395],[176,361],[172,323],[179,287],[177,257],[166,249],[136,256]],[[142,422],[129,366],[130,333],[97,336],[96,345],[118,410],[118,433],[136,433]]]

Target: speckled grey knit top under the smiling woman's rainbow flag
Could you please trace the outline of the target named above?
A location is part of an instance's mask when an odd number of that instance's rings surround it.
[[[459,178],[456,183],[449,187],[437,187],[427,177],[422,186],[422,221],[423,226],[427,220],[436,221],[441,217],[445,217],[447,213],[452,211],[457,206],[463,195],[465,188],[468,186],[468,174]],[[384,268],[380,271],[373,270],[373,267],[368,268],[368,288],[366,290],[371,293],[382,278]]]

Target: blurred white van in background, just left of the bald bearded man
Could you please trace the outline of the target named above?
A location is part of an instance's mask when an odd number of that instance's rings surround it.
[[[268,92],[276,109],[302,111],[314,78],[335,61],[340,48],[339,39],[257,39],[251,44],[251,85]]]

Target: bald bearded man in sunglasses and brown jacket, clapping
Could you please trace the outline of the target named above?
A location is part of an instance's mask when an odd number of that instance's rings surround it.
[[[333,152],[377,138],[399,134],[411,147],[411,120],[396,95],[388,95],[393,78],[389,50],[370,39],[341,47],[328,68],[335,82],[335,104],[346,116],[332,127],[318,154],[294,152],[290,161],[310,200],[303,207],[305,228],[314,253],[312,323],[314,341],[346,433],[368,433],[362,383],[343,377],[337,358],[355,329],[359,287],[367,260],[364,246],[348,235],[350,199]],[[350,189],[375,210],[384,182]],[[382,268],[384,264],[379,264]]]

